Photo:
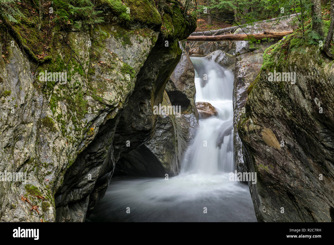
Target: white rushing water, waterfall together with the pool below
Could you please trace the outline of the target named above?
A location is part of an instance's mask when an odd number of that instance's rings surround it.
[[[234,172],[233,74],[202,57],[191,60],[196,102],[209,102],[218,113],[199,120],[180,174],[169,180],[113,177],[88,221],[256,221],[248,186],[229,181],[228,173]]]

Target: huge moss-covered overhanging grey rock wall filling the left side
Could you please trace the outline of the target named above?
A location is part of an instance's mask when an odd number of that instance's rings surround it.
[[[97,2],[105,23],[94,26],[41,18],[38,28],[24,4],[22,23],[0,24],[0,171],[27,173],[26,183],[0,182],[1,221],[84,221],[117,161],[153,132],[178,40],[196,21],[176,1]],[[67,83],[39,79],[45,70],[67,72]]]

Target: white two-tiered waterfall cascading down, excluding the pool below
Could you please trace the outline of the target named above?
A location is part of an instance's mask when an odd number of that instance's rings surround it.
[[[195,68],[196,102],[209,102],[217,117],[199,120],[181,173],[218,174],[234,171],[233,74],[214,61],[191,57]]]

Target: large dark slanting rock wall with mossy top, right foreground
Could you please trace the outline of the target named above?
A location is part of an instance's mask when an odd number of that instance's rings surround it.
[[[266,51],[237,129],[259,221],[333,222],[334,65],[296,35]],[[273,81],[275,70],[296,80]]]

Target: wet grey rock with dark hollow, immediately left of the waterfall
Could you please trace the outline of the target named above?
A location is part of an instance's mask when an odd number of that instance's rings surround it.
[[[178,113],[159,115],[153,136],[140,147],[140,152],[138,149],[132,150],[120,160],[121,163],[126,161],[127,165],[131,165],[130,169],[119,164],[115,173],[152,176],[151,161],[161,166],[155,176],[165,174],[174,176],[179,173],[183,153],[197,128],[198,112],[194,107],[196,94],[194,77],[192,62],[189,56],[183,53],[166,84],[161,103],[161,106],[174,106]],[[134,168],[151,170],[136,172]]]

